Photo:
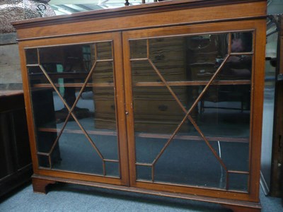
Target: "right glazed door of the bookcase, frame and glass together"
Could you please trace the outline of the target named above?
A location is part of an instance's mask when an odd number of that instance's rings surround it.
[[[261,105],[255,54],[263,55],[263,27],[242,21],[123,33],[133,187],[258,198],[253,129],[261,108],[253,100]]]

